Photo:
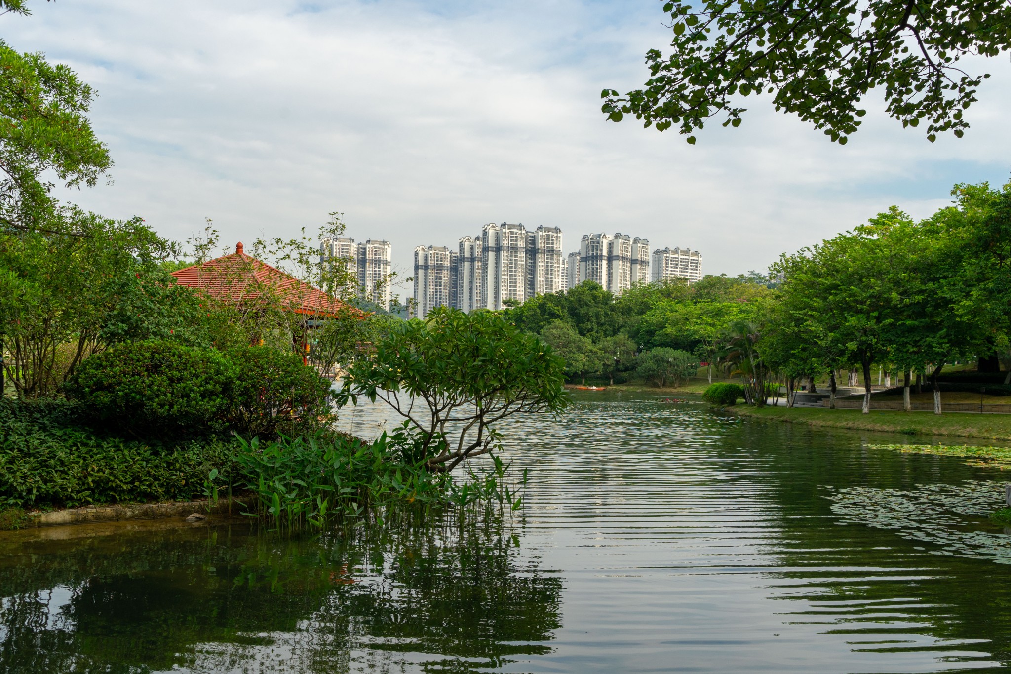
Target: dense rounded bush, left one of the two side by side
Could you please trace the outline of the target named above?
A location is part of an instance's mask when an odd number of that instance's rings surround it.
[[[123,344],[91,356],[67,396],[112,429],[143,437],[206,436],[226,428],[232,362],[174,342]]]

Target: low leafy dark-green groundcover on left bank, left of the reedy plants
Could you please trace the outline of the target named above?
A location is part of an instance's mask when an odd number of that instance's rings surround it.
[[[0,400],[0,508],[200,498],[208,472],[235,475],[234,441],[105,438],[73,403]]]

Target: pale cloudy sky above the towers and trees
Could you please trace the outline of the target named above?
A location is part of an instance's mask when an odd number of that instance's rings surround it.
[[[779,253],[899,204],[926,215],[955,182],[1008,177],[1011,64],[967,137],[931,145],[876,98],[845,147],[750,99],[737,129],[688,146],[606,122],[600,91],[645,80],[668,31],[657,0],[35,0],[0,18],[22,51],[99,93],[92,121],[114,183],[63,196],[141,215],[184,240],[205,217],[228,243],[314,229],[455,246],[489,221],[622,231],[704,256],[707,273]],[[1005,114],[1001,114],[1005,112]],[[1003,117],[1003,118],[1002,118]]]

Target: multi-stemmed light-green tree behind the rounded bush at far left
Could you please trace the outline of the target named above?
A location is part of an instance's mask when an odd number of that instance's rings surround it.
[[[51,231],[0,233],[4,371],[19,396],[52,395],[85,358],[113,344],[206,342],[198,298],[160,264],[175,247],[140,218],[62,207],[47,222]]]

